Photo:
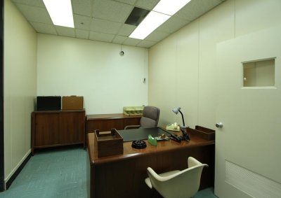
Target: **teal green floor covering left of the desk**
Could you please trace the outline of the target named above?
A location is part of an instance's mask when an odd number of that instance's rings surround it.
[[[86,198],[86,150],[81,147],[38,150],[11,187],[0,192],[2,197]],[[216,196],[213,188],[207,188],[194,198]]]

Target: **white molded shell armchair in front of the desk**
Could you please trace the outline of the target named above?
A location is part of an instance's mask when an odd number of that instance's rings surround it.
[[[208,167],[193,157],[188,157],[188,169],[183,171],[169,171],[164,174],[157,174],[148,167],[148,178],[145,183],[149,188],[155,188],[164,198],[180,198],[194,196],[200,187],[202,170]]]

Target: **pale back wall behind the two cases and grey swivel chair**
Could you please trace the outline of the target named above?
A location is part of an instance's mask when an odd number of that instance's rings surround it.
[[[86,114],[148,104],[148,50],[38,34],[37,95],[80,95]],[[146,82],[143,83],[143,78]]]

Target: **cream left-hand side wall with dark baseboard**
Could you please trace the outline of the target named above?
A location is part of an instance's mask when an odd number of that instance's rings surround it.
[[[36,95],[37,34],[11,1],[4,2],[5,182],[30,153]]]

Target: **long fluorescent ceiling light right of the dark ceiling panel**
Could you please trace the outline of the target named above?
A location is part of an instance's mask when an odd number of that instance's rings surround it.
[[[181,10],[191,0],[162,0],[145,17],[141,24],[129,36],[130,38],[144,39],[162,23]]]

